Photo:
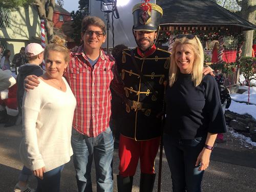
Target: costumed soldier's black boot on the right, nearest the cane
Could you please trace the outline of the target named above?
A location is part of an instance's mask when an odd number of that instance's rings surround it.
[[[140,192],[152,192],[156,174],[140,174]]]

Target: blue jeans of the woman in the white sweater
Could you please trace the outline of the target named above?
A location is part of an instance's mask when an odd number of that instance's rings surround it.
[[[60,187],[60,173],[62,172],[64,165],[50,170],[44,173],[44,179],[37,179],[36,192],[59,192]]]

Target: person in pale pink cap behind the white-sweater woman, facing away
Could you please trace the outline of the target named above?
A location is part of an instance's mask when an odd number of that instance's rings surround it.
[[[44,49],[40,44],[31,43],[28,44],[25,49],[25,54],[28,60],[28,63],[25,65],[20,66],[18,69],[18,76],[17,76],[17,102],[18,102],[18,112],[19,116],[22,116],[22,101],[24,95],[24,79],[27,75],[36,75],[40,76],[43,73],[42,68],[39,66],[44,60]],[[14,192],[19,191],[28,191],[33,192],[34,189],[31,189],[28,186],[28,179],[29,176],[32,175],[32,172],[26,166],[23,167],[22,172],[19,175],[19,181],[15,185]]]

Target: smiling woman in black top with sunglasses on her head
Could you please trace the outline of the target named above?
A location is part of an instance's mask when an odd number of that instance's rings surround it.
[[[171,57],[163,139],[173,191],[201,191],[217,134],[226,132],[218,85],[203,76],[203,48],[195,35],[179,35]]]

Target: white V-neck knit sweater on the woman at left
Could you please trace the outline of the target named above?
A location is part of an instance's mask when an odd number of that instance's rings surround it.
[[[31,170],[46,167],[46,172],[70,161],[73,155],[71,130],[76,99],[64,80],[62,92],[39,78],[34,90],[23,99],[23,140],[19,154]]]

